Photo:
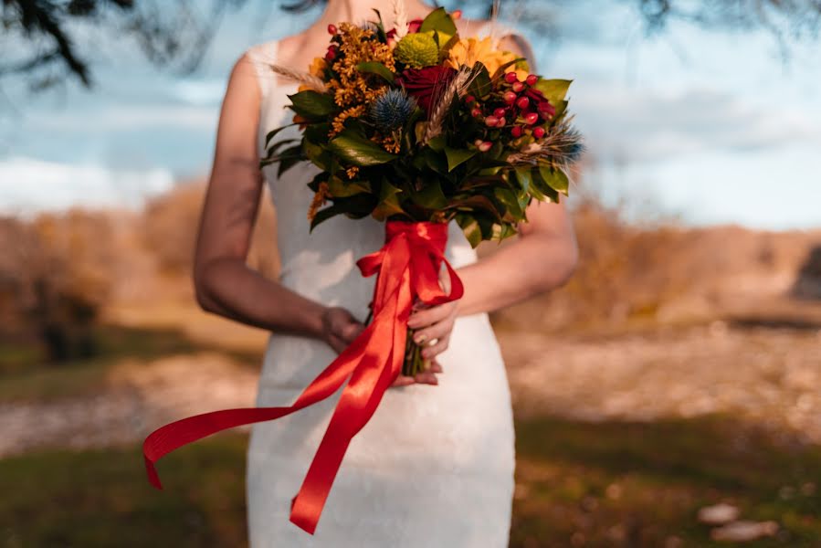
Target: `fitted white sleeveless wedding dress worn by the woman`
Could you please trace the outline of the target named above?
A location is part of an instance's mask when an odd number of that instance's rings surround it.
[[[262,91],[259,152],[267,132],[290,122],[286,97],[296,84],[265,68],[277,41],[248,49]],[[276,139],[298,135],[295,127]],[[276,207],[280,281],[364,321],[374,279],[358,258],[382,247],[384,225],[336,216],[309,234],[317,173],[301,163],[265,177]],[[476,253],[451,223],[447,259],[454,268]],[[258,406],[289,406],[336,356],[324,342],[274,333],[259,379]],[[252,548],[494,548],[508,545],[514,434],[510,389],[485,313],[459,317],[439,357],[438,385],[389,388],[370,422],[353,438],[313,536],[289,522],[300,489],[342,390],[314,406],[252,427],[247,454],[247,515]]]

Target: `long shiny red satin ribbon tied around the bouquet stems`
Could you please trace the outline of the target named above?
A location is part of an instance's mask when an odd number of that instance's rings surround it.
[[[291,500],[290,521],[313,534],[348,445],[402,371],[407,319],[415,299],[437,305],[462,296],[462,282],[444,255],[446,243],[446,223],[388,221],[383,248],[356,262],[363,276],[378,273],[374,321],[311,381],[292,406],[212,411],[154,430],[142,444],[152,485],[163,489],[154,463],[174,449],[227,428],[290,415],[332,395],[350,377],[302,486]],[[439,286],[442,262],[450,275],[449,294]]]

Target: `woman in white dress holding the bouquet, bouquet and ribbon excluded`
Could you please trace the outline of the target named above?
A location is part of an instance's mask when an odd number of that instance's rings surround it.
[[[328,0],[300,34],[251,47],[226,90],[195,258],[197,300],[205,311],[272,332],[258,406],[288,406],[363,330],[373,278],[357,258],[381,248],[384,227],[372,218],[333,217],[309,236],[306,217],[316,168],[282,177],[258,170],[264,136],[289,121],[287,94],[266,63],[307,67],[327,47],[329,24],[373,16],[375,0]],[[383,8],[384,5],[379,5]],[[409,19],[433,8],[406,0]],[[481,24],[458,21],[470,36]],[[532,58],[519,37],[501,47]],[[293,132],[289,132],[293,130]],[[295,135],[289,128],[281,138]],[[276,206],[279,280],[246,266],[263,184]],[[252,429],[247,458],[248,531],[268,546],[505,546],[510,532],[514,448],[510,391],[488,311],[563,283],[576,247],[563,205],[534,202],[520,236],[478,261],[455,223],[447,258],[464,297],[415,311],[409,325],[427,344],[430,371],[399,377],[353,438],[313,536],[289,522],[300,488],[340,393]],[[431,344],[432,343],[432,344]],[[447,371],[447,373],[444,373]]]

